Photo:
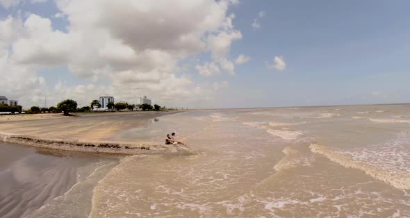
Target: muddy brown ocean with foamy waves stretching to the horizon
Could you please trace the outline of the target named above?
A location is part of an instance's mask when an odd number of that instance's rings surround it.
[[[410,217],[410,105],[190,110],[109,140],[172,132],[200,154],[93,161],[28,217]]]

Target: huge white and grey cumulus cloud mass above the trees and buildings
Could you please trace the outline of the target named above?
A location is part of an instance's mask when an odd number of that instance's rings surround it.
[[[4,7],[16,6],[16,2],[0,0]],[[28,15],[25,20],[6,17],[0,20],[0,75],[4,78],[8,72],[17,72],[18,77],[0,81],[0,86],[27,106],[40,101],[42,95],[56,101],[69,97],[86,102],[105,93],[124,101],[147,94],[170,106],[176,96],[184,102],[174,106],[192,103],[215,89],[213,84],[195,83],[188,72],[181,73],[179,62],[205,53],[211,62],[195,67],[200,74],[235,74],[229,51],[242,34],[233,26],[235,16],[227,15],[235,3],[238,1],[56,0],[59,11],[55,17],[69,22],[65,32],[39,15]],[[39,72],[53,67],[65,67],[90,83],[47,85]],[[16,92],[15,85],[22,84],[27,88],[19,86],[22,91]]]

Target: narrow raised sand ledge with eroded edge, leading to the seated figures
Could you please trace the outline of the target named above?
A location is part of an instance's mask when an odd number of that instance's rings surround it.
[[[0,141],[13,144],[24,144],[42,149],[77,151],[88,153],[120,154],[120,155],[168,155],[188,156],[199,152],[188,146],[161,145],[132,142],[111,142],[99,140],[63,140],[45,139],[29,135],[0,132]]]

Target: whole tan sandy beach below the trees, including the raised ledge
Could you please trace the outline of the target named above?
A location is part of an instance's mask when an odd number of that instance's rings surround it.
[[[174,113],[95,112],[77,113],[70,117],[59,114],[10,115],[8,118],[1,117],[3,121],[0,121],[0,140],[38,146],[43,149],[90,153],[126,155],[195,153],[188,146],[165,145],[163,142],[153,143],[141,139],[129,142],[113,140],[113,137],[121,131],[143,128],[151,122],[158,121],[158,117]]]

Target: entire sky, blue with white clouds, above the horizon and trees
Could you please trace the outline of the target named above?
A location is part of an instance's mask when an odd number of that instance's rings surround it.
[[[0,95],[184,108],[410,102],[410,1],[0,0]]]

